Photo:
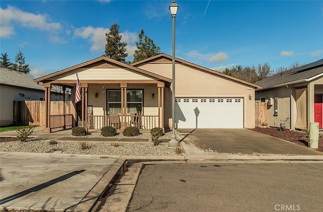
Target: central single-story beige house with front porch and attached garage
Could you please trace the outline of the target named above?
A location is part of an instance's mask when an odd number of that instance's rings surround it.
[[[102,56],[35,81],[44,83],[45,93],[53,84],[73,87],[74,102],[77,75],[82,95],[74,125],[172,127],[171,56],[159,54],[131,65]],[[256,88],[261,87],[176,59],[176,128],[254,128]],[[53,120],[46,105],[45,132],[50,132]]]

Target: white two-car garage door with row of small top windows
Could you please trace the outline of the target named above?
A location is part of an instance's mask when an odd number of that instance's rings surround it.
[[[243,128],[242,98],[177,98],[176,128]]]

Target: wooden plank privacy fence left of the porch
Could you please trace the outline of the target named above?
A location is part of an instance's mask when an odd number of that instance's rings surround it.
[[[51,125],[62,127],[72,125],[71,101],[51,101],[50,118],[56,117],[59,121],[51,121]],[[65,111],[64,111],[65,106]],[[45,102],[44,101],[14,101],[13,123],[16,125],[44,126]],[[51,128],[51,127],[50,127]]]

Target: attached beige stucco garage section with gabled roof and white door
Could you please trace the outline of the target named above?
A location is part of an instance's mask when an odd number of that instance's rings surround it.
[[[159,54],[132,66],[172,78],[172,57]],[[255,127],[256,84],[175,59],[175,128]],[[165,128],[172,128],[173,81],[164,89]]]

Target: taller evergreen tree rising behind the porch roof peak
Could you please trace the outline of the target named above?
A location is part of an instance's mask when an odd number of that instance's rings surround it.
[[[128,53],[126,53],[126,42],[121,42],[122,35],[119,32],[119,25],[114,23],[110,27],[110,32],[105,33],[106,44],[103,56],[125,63]]]

